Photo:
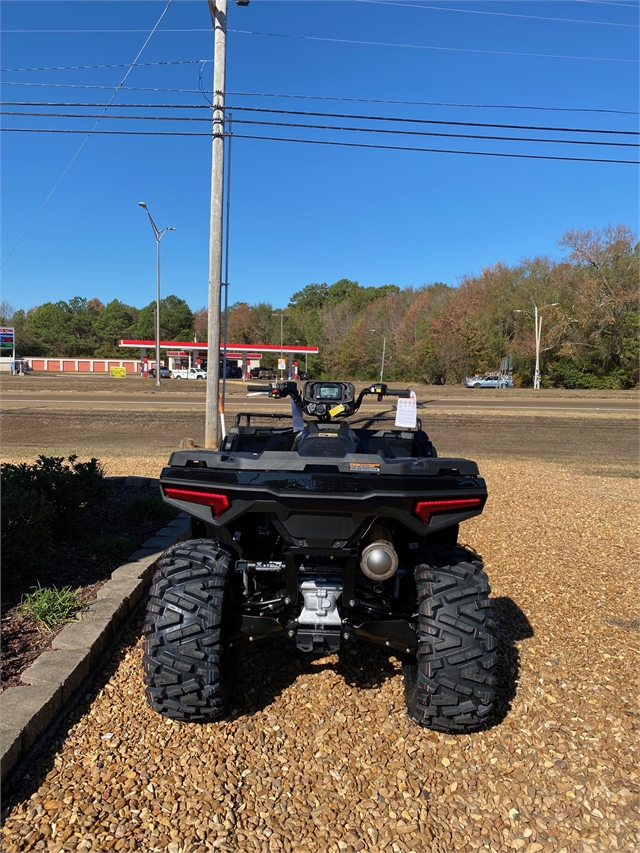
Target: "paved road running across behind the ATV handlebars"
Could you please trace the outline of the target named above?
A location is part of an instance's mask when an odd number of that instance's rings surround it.
[[[388,407],[388,403],[382,407]],[[556,398],[541,397],[538,400],[532,398],[508,398],[504,400],[482,398],[480,395],[470,392],[470,396],[464,397],[440,397],[419,399],[420,408],[452,410],[452,409],[489,409],[494,411],[538,411],[538,412],[616,412],[619,414],[638,414],[639,407],[636,400],[607,400],[606,398],[568,398],[559,400]],[[6,392],[2,395],[2,408],[143,408],[143,409],[173,409],[199,411],[204,408],[204,395],[164,395],[150,394],[46,394],[32,392]],[[289,403],[278,403],[267,400],[260,396],[244,397],[236,394],[227,397],[227,410],[236,412],[239,409],[251,408],[252,411],[278,411]],[[381,404],[375,399],[365,400],[362,409],[380,409]]]

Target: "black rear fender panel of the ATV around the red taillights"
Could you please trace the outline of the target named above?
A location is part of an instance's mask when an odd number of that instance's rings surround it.
[[[290,452],[260,455],[178,451],[160,476],[167,503],[208,527],[233,527],[249,513],[266,515],[293,550],[348,551],[375,518],[396,521],[417,537],[479,515],[487,489],[467,459],[383,459],[376,454],[301,458]],[[166,487],[225,495],[228,509],[214,517],[209,506],[177,499]],[[422,521],[419,501],[478,499],[473,508],[438,511]],[[226,537],[225,537],[226,538]]]

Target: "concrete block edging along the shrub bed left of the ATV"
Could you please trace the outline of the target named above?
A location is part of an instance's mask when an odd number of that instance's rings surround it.
[[[61,712],[75,704],[85,681],[143,598],[158,558],[185,538],[189,524],[183,513],[148,539],[111,573],[79,621],[65,625],[51,649],[22,673],[22,684],[0,693],[0,781]]]

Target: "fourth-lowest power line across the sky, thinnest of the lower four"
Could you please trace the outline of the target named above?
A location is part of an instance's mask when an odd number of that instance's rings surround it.
[[[207,60],[201,60],[207,61]],[[138,66],[139,67],[139,66]],[[112,86],[98,86],[88,83],[22,83],[17,80],[3,81],[3,86],[33,86],[38,88],[58,88],[58,89],[109,89]],[[187,95],[202,94],[200,89],[176,89],[157,86],[122,86],[121,91],[126,92],[173,92]],[[211,92],[208,92],[210,95]],[[467,104],[454,103],[449,101],[398,101],[391,98],[349,98],[340,97],[338,95],[294,95],[285,92],[230,92],[227,95],[242,98],[293,98],[298,100],[309,101],[349,101],[360,104],[399,104],[401,106],[418,106],[418,107],[464,107],[470,109],[482,110],[538,110],[540,112],[565,112],[565,113],[610,113],[614,115],[640,115],[637,110],[611,110],[601,109],[596,107],[541,107],[531,104]]]

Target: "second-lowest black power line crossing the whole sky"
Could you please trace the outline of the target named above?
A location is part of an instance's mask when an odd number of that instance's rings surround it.
[[[92,115],[78,115],[77,113],[33,113],[33,112],[18,112],[18,111],[9,111],[3,110],[0,111],[0,115],[4,116],[37,116],[39,118],[74,118],[74,119],[92,119],[98,118],[98,116]],[[102,116],[100,116],[101,118]],[[188,122],[188,121],[198,121],[198,122],[210,122],[211,119],[209,117],[200,118],[199,116],[106,116],[105,120],[113,121],[113,120],[125,120],[125,121],[180,121],[180,122]],[[295,128],[307,128],[309,130],[337,130],[340,132],[354,132],[354,133],[387,133],[393,135],[403,135],[403,136],[429,136],[429,137],[446,137],[449,139],[489,139],[492,141],[500,141],[500,142],[546,142],[546,143],[555,143],[559,145],[598,145],[598,146],[607,146],[607,147],[616,147],[616,148],[637,148],[638,143],[634,142],[601,142],[598,140],[590,140],[590,139],[541,139],[540,137],[519,137],[519,136],[486,136],[480,134],[473,133],[444,133],[439,132],[436,133],[434,131],[421,131],[421,130],[391,130],[389,128],[377,128],[377,127],[337,127],[336,125],[328,125],[328,124],[301,124],[301,123],[292,123],[292,122],[278,122],[278,121],[256,121],[251,119],[235,119],[236,124],[248,124],[248,125],[259,125],[263,127],[295,127]]]

